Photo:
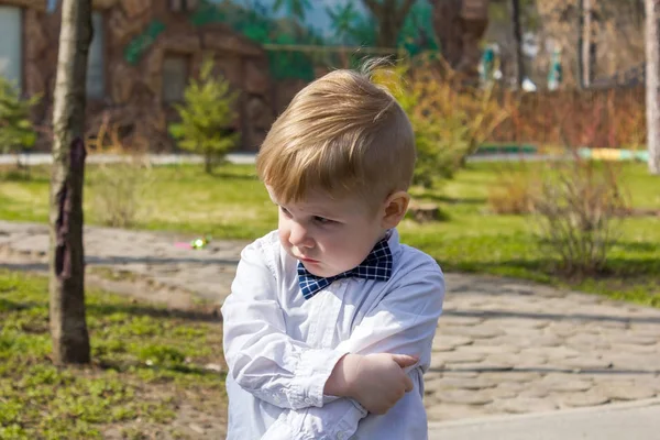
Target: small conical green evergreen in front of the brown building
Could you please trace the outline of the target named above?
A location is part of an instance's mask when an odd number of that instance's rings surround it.
[[[237,143],[237,134],[230,134],[229,128],[235,119],[238,92],[230,87],[228,80],[213,75],[213,62],[207,58],[199,79],[186,88],[184,105],[175,106],[182,122],[169,125],[182,148],[204,155],[207,173],[212,172],[215,162],[223,162]]]

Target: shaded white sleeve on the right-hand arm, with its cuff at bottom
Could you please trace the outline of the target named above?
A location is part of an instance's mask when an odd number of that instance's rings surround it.
[[[418,365],[408,369],[415,385],[411,393],[419,393],[419,384],[411,370],[420,369],[425,372],[430,365],[431,344],[442,312],[444,279],[439,268],[407,278],[416,280],[395,287],[337,350],[358,354],[397,353],[419,356]],[[403,400],[397,405],[406,405]],[[397,413],[405,414],[406,409],[408,408],[398,408]],[[417,411],[418,408],[410,407],[410,410]],[[322,408],[288,410],[270,427],[262,440],[307,440],[321,436],[349,439],[358,431],[360,420],[366,416],[366,410],[349,398],[341,398]]]

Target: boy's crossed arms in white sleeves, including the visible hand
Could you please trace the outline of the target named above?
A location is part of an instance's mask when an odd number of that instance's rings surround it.
[[[246,249],[233,294],[223,305],[224,350],[237,383],[256,397],[289,408],[264,439],[315,438],[331,428],[354,432],[366,411],[384,414],[413,389],[404,367],[430,355],[442,309],[439,270],[420,273],[391,293],[334,350],[311,349],[286,334],[270,270]],[[261,272],[255,276],[255,272]],[[235,318],[232,318],[235,317]],[[229,318],[229,319],[228,319]],[[428,359],[424,360],[428,362]],[[323,406],[323,395],[350,397]],[[331,410],[330,410],[331,409]],[[366,410],[365,410],[366,409]]]

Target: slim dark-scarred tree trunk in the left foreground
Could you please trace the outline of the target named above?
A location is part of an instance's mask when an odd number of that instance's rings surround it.
[[[88,363],[82,250],[87,53],[91,0],[64,0],[53,110],[50,295],[55,364]]]

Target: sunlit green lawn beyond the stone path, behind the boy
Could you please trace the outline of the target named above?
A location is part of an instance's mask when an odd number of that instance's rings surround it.
[[[525,170],[536,173],[537,167],[530,165]],[[399,228],[404,241],[431,254],[446,271],[566,286],[568,280],[553,274],[554,261],[539,245],[529,217],[488,211],[488,188],[497,183],[498,175],[521,168],[519,164],[470,164],[433,191],[414,189],[418,200],[438,202],[447,219],[433,223],[406,219]],[[0,219],[46,221],[47,169],[33,169],[30,179],[8,169],[0,170]],[[626,164],[622,182],[628,187],[632,206],[660,209],[660,178],[649,176],[644,164]],[[99,189],[98,172],[89,167],[85,208],[92,224],[99,221],[92,202]],[[138,229],[254,239],[276,227],[276,210],[252,165],[227,165],[213,176],[193,165],[154,168],[141,208],[134,224]],[[660,307],[660,218],[624,220],[607,268],[607,276],[571,282],[571,286]]]

